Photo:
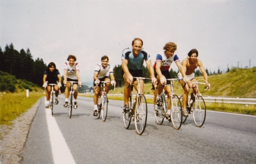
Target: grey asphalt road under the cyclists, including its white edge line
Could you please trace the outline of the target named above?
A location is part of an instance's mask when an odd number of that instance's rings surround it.
[[[71,119],[63,95],[59,100],[52,117],[42,98],[21,154],[23,164],[256,163],[255,116],[207,111],[201,128],[189,115],[175,130],[167,120],[157,125],[149,104],[147,126],[139,136],[133,121],[124,128],[121,101],[109,101],[103,122],[93,117],[92,98],[79,97]]]

